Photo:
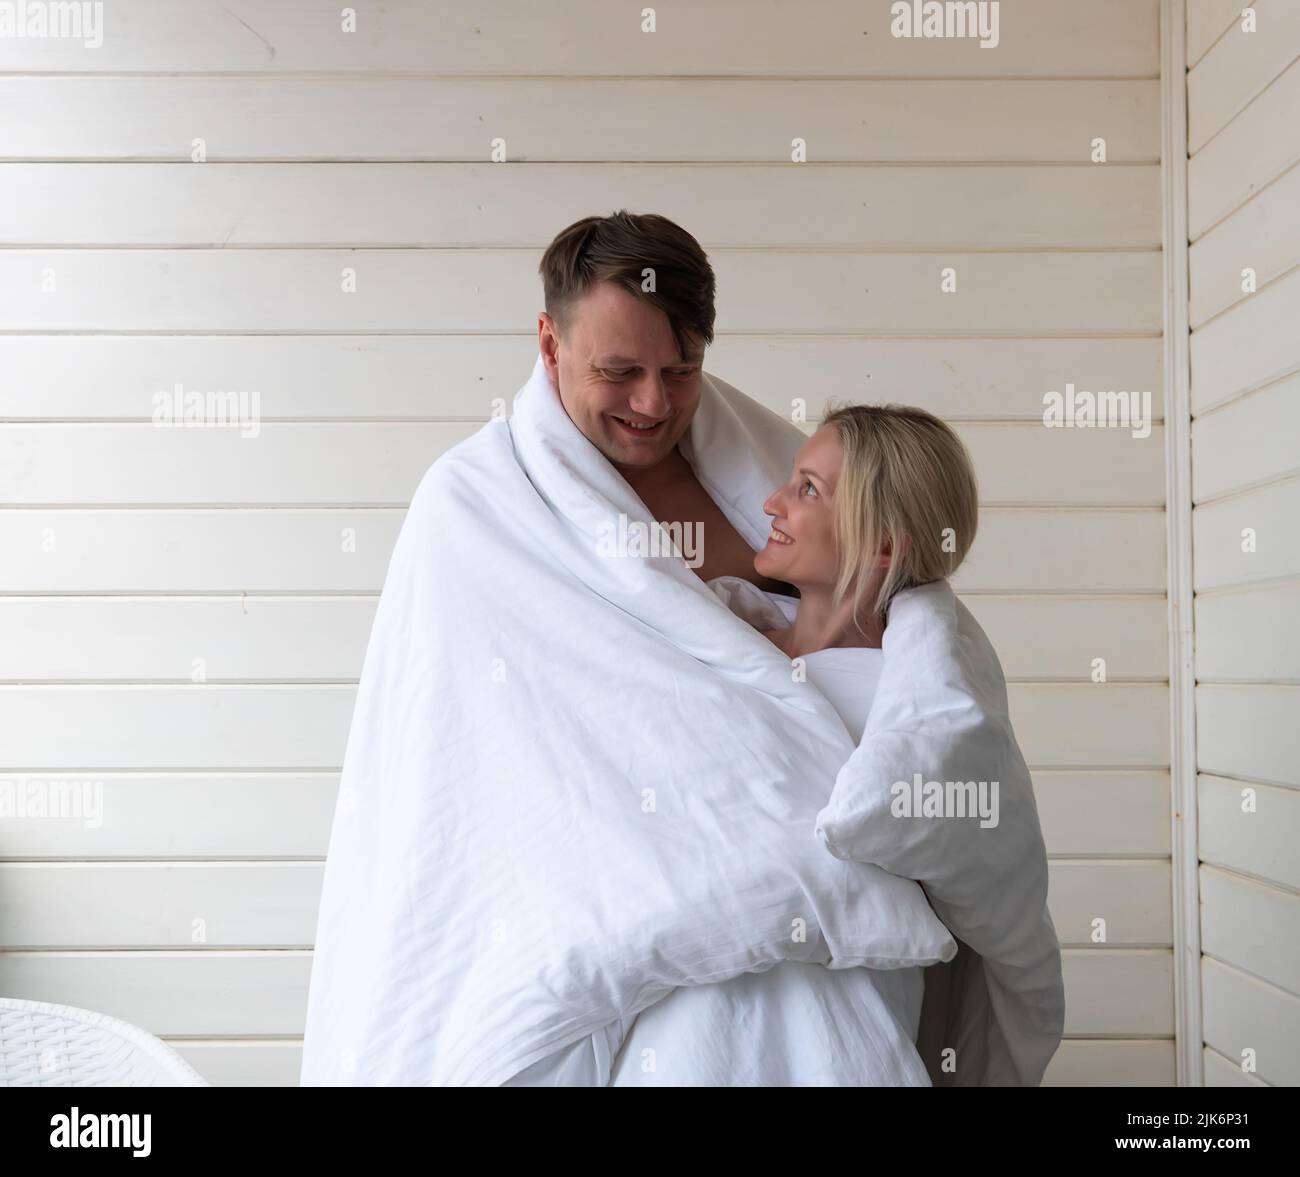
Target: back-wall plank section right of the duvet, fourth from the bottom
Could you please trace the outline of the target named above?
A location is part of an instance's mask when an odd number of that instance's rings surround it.
[[[1167,773],[1039,770],[1034,797],[1049,856],[1170,853]]]

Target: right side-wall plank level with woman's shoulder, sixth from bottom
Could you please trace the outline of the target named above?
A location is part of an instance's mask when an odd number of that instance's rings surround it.
[[[1300,581],[1197,593],[1196,678],[1300,683]]]

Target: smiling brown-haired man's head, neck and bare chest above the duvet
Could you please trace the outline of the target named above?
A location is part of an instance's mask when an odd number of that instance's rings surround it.
[[[538,349],[564,411],[660,523],[699,537],[703,580],[754,571],[754,551],[677,447],[699,404],[716,281],[685,229],[654,213],[585,217],[547,247]]]

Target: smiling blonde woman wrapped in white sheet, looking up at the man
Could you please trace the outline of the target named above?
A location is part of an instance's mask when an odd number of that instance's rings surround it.
[[[975,537],[970,458],[923,410],[840,408],[801,447],[764,511],[772,531],[754,568],[798,598],[733,576],[710,587],[826,694],[857,743],[883,667],[889,601],[950,576]],[[676,988],[507,1086],[928,1086],[916,1050],[923,994],[919,968],[784,961]]]

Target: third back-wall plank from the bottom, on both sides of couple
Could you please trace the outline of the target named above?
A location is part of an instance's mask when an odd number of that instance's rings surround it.
[[[4,948],[308,948],[318,862],[0,862]],[[1167,862],[1053,862],[1062,944],[1161,944]],[[1098,946],[1100,947],[1100,946]]]

